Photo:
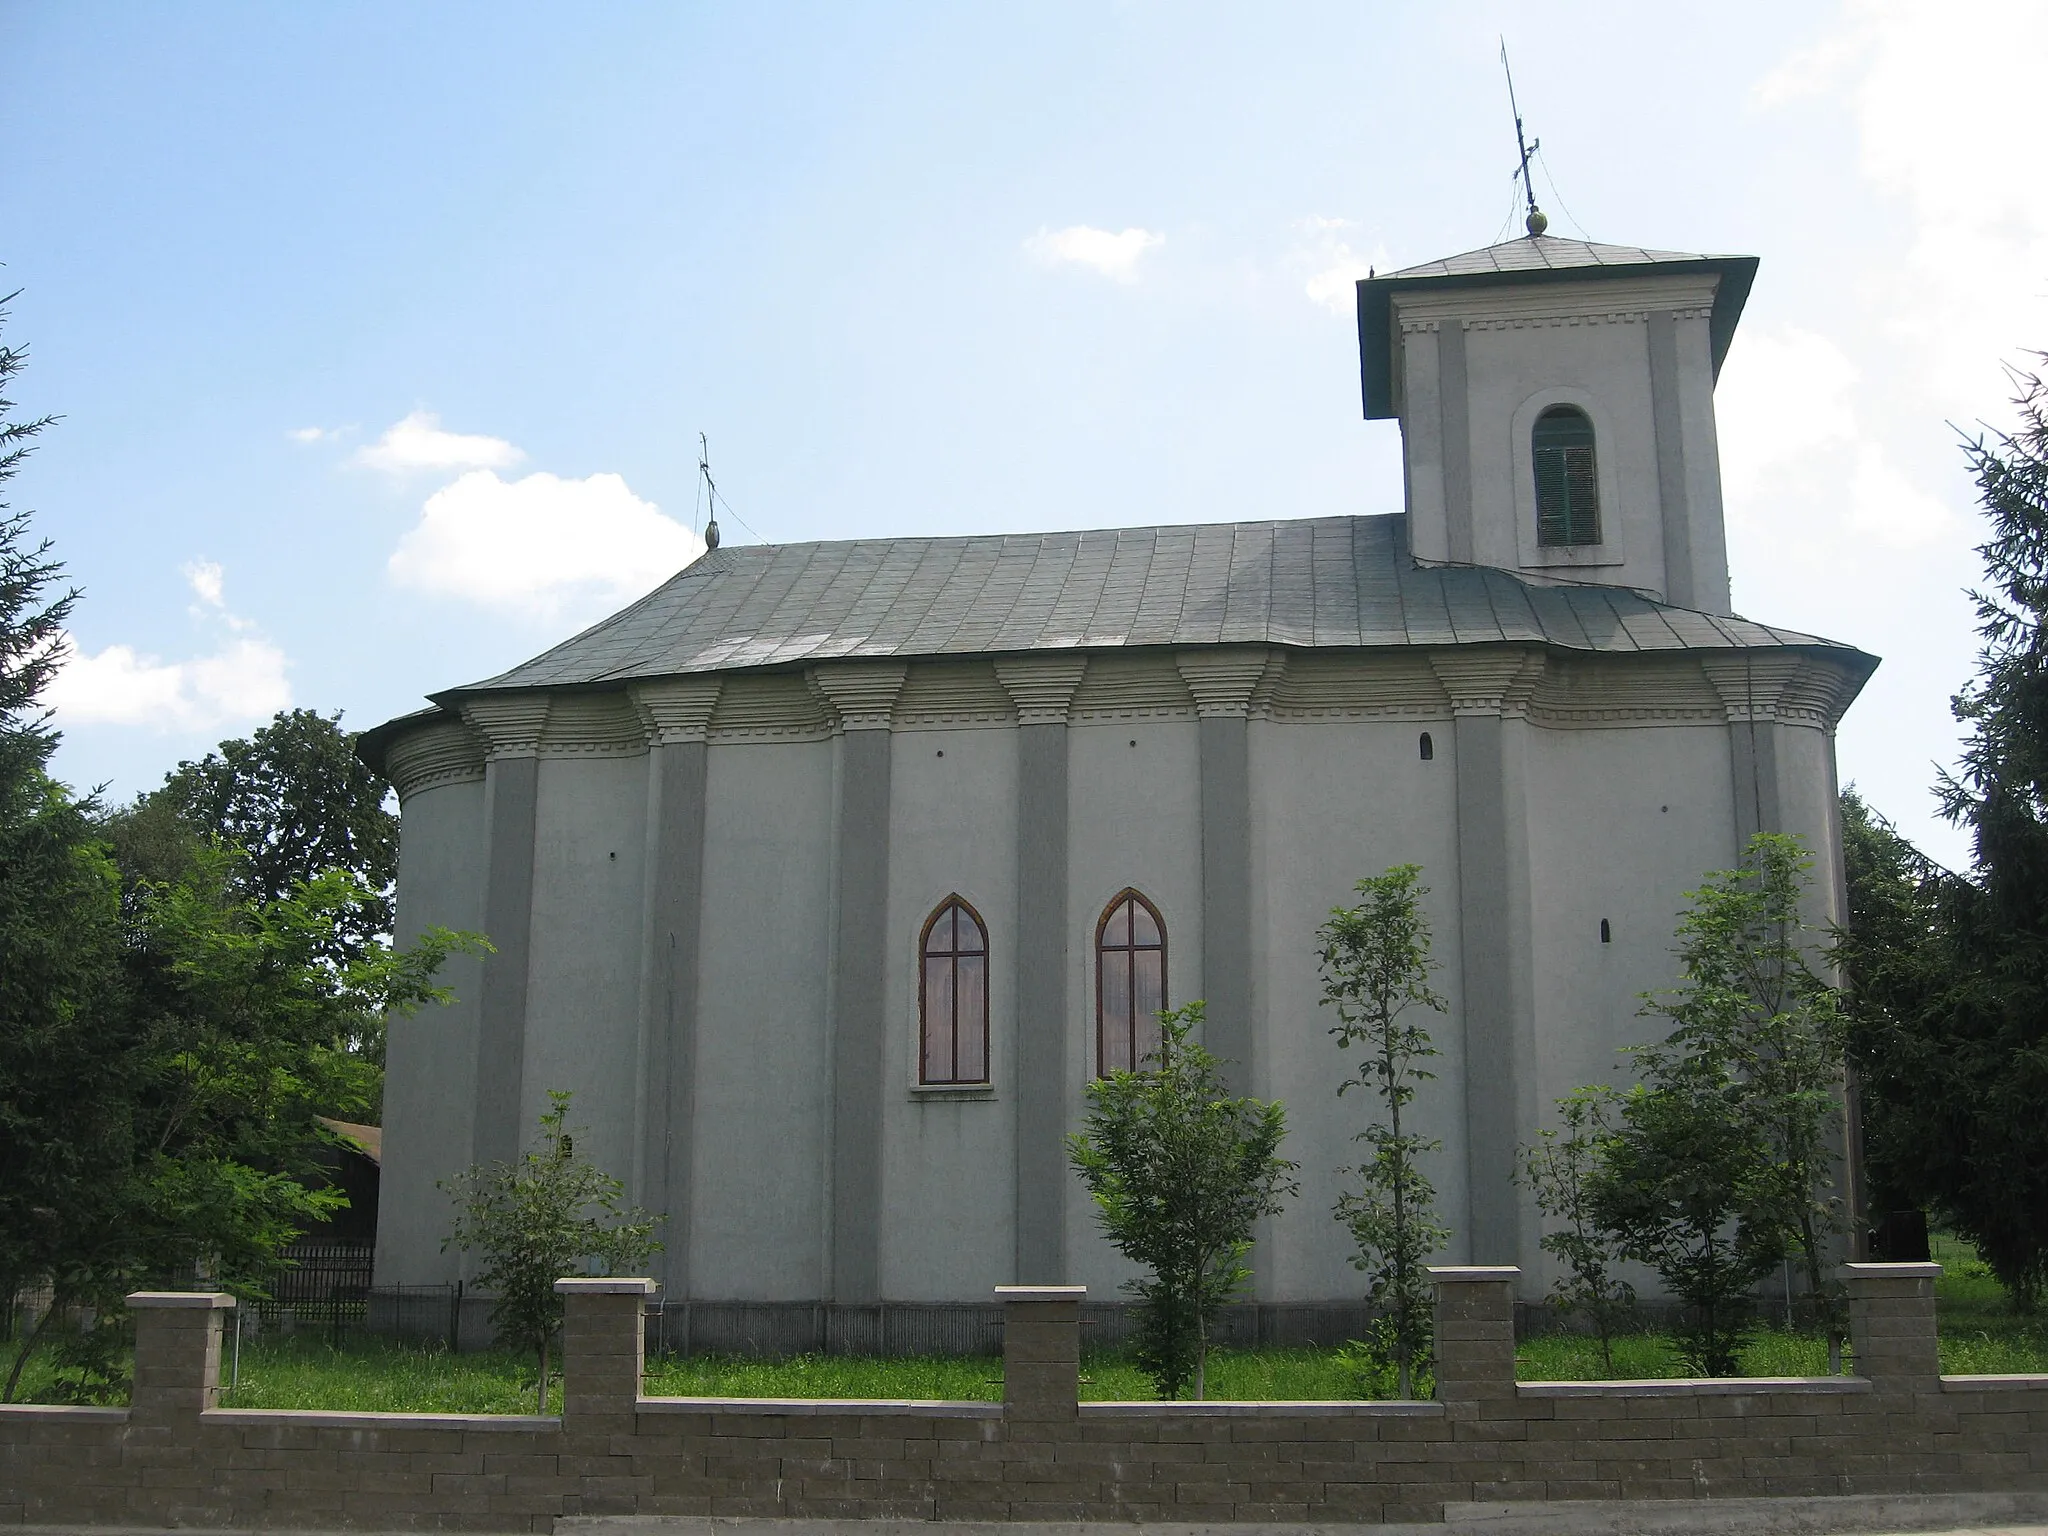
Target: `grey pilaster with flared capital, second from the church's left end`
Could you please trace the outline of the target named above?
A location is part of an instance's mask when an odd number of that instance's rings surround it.
[[[668,1214],[662,1264],[690,1294],[696,1194],[696,993],[705,901],[705,815],[717,676],[629,688],[647,731],[647,883],[641,942],[641,1137],[635,1194]]]

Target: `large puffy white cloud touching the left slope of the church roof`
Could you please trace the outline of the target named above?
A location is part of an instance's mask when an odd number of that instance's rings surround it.
[[[618,475],[508,481],[473,469],[426,500],[389,571],[416,592],[553,621],[606,612],[702,553],[702,539]]]

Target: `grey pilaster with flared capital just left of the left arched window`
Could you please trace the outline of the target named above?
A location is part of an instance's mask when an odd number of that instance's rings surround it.
[[[881,1300],[883,1073],[889,1047],[889,717],[903,664],[811,668],[838,719],[831,956],[831,1298]]]

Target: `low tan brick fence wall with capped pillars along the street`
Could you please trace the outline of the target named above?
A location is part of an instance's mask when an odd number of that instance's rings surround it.
[[[1862,1376],[1516,1382],[1513,1270],[1438,1270],[1432,1403],[1077,1403],[1071,1286],[1006,1403],[639,1397],[643,1280],[565,1280],[563,1417],[213,1407],[225,1296],[137,1294],[127,1409],[0,1407],[0,1522],[549,1530],[557,1516],[1409,1522],[1561,1499],[2048,1495],[2048,1376],[1939,1376],[1931,1264],[1849,1266]]]

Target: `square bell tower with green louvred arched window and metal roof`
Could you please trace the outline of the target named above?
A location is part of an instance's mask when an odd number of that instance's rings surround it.
[[[1714,381],[1755,270],[1530,233],[1364,279],[1366,418],[1401,422],[1409,553],[1729,612]]]

